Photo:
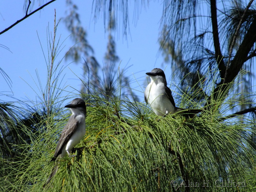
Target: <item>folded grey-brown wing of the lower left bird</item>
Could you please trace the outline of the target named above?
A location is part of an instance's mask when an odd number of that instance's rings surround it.
[[[52,161],[55,160],[56,157],[58,157],[58,155],[61,154],[63,146],[71,138],[72,134],[74,133],[74,131],[77,128],[77,125],[78,125],[78,121],[75,119],[75,116],[72,115],[69,118],[68,123],[63,128],[63,131],[61,132],[60,139],[59,139],[59,142],[57,144],[57,147],[56,147],[56,150],[54,153],[55,158],[53,158]]]

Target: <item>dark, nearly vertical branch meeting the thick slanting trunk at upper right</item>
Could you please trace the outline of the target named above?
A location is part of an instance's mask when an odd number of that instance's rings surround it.
[[[221,53],[221,46],[219,43],[216,0],[211,0],[211,23],[212,23],[212,35],[213,35],[213,42],[214,42],[214,49],[215,49],[215,59],[218,64],[221,78],[224,78],[226,67],[222,59],[223,55]]]

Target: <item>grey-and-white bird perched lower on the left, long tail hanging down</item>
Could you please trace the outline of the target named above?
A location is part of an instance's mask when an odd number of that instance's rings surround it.
[[[64,157],[68,154],[69,157],[71,150],[80,142],[86,133],[85,117],[86,117],[86,104],[83,99],[75,98],[65,108],[69,108],[72,112],[69,117],[68,123],[63,128],[60,139],[58,141],[54,156],[51,161]],[[52,177],[56,174],[59,163],[55,163],[50,176],[48,177],[43,188],[49,184]]]

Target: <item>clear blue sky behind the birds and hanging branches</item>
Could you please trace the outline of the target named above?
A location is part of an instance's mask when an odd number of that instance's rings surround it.
[[[108,42],[108,34],[105,34],[103,25],[103,14],[101,13],[95,22],[93,19],[94,11],[92,11],[92,1],[74,1],[78,3],[78,11],[82,25],[87,30],[87,39],[93,47],[95,57],[100,64],[103,64],[103,57],[106,52]],[[4,30],[12,23],[22,18],[25,13],[23,11],[23,1],[8,0],[1,2],[0,7],[0,30]],[[33,10],[37,8],[34,6]],[[37,79],[35,70],[38,71],[40,80],[43,85],[46,82],[46,63],[42,49],[47,54],[47,27],[53,31],[54,9],[56,9],[56,20],[65,16],[65,2],[55,1],[46,6],[41,11],[33,14],[29,18],[23,20],[12,29],[0,35],[0,44],[8,47],[9,50],[0,47],[0,67],[12,80],[11,90],[8,84],[0,76],[1,91],[0,100],[15,101],[33,100],[36,99],[36,93],[31,89],[33,87],[37,92],[35,82]],[[146,72],[151,71],[155,67],[162,69],[166,68],[167,83],[171,83],[170,65],[163,61],[163,57],[159,54],[159,27],[162,14],[162,4],[158,1],[151,1],[145,6],[140,5],[139,9],[134,11],[134,5],[129,4],[129,33],[127,37],[123,35],[123,26],[119,17],[118,30],[114,34],[116,40],[117,55],[121,60],[121,68],[126,65],[131,67],[125,73],[130,76],[133,83],[131,86],[134,89],[143,91],[145,86]],[[37,35],[38,34],[38,35]],[[60,41],[64,41],[69,31],[66,29],[64,22],[60,22],[57,29],[57,37]],[[40,46],[38,37],[42,43]],[[71,38],[67,38],[63,45],[63,51],[60,53],[61,60],[65,52],[74,45]],[[78,93],[81,82],[76,75],[82,78],[82,63],[72,63],[71,60],[63,60],[62,65],[68,66],[65,68],[64,82],[68,87],[66,91]],[[167,67],[166,67],[167,66]],[[76,75],[74,75],[74,73]],[[135,80],[136,79],[136,80]],[[142,87],[139,87],[138,83]],[[31,86],[29,86],[29,85]],[[12,91],[12,92],[11,92]],[[6,97],[3,94],[10,94]],[[13,94],[12,94],[13,93]],[[137,93],[140,100],[143,101],[144,95],[141,92]]]

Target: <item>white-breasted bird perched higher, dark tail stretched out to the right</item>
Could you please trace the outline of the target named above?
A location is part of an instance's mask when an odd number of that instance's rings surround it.
[[[202,112],[202,109],[176,107],[172,91],[167,87],[165,73],[162,69],[154,68],[151,72],[147,72],[146,75],[150,76],[151,81],[145,89],[144,98],[156,115],[166,116],[169,113],[176,113],[192,118],[195,114]]]

